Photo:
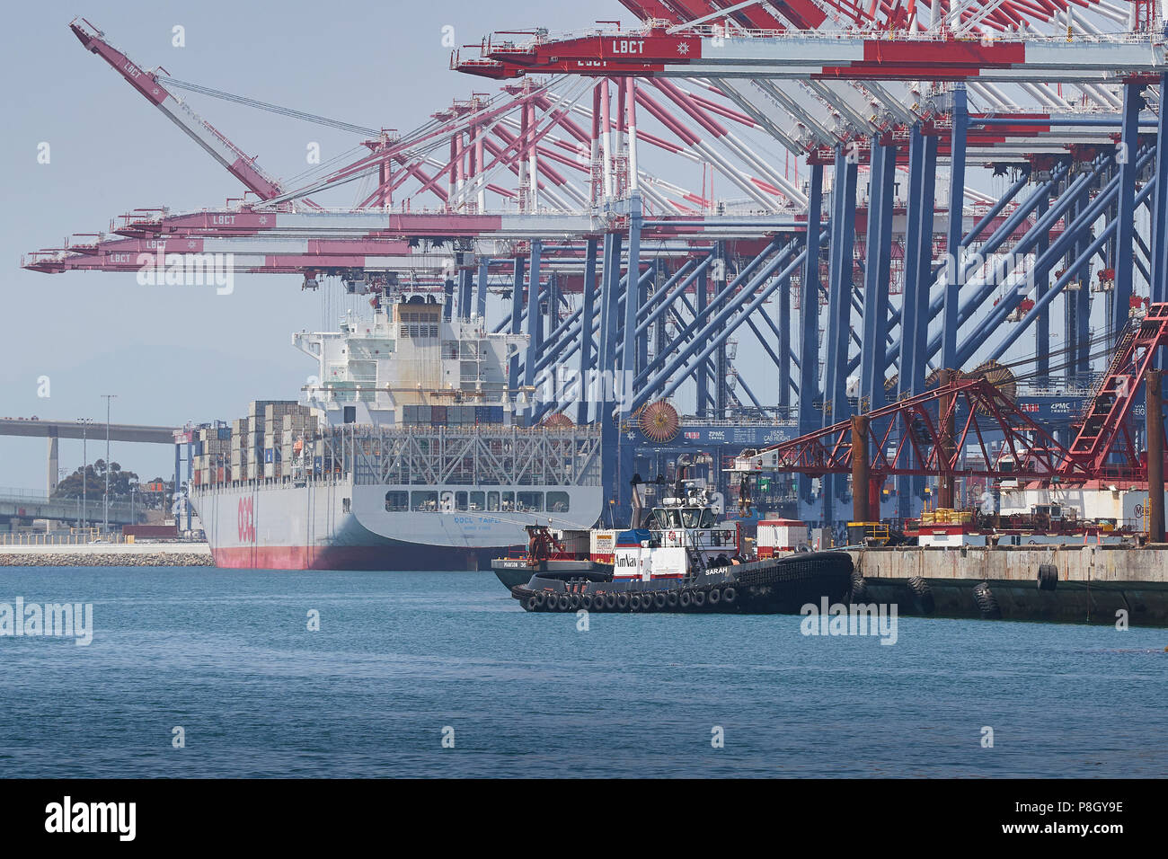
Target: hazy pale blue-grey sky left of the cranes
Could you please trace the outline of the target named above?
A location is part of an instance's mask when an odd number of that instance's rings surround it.
[[[369,127],[409,130],[452,98],[493,89],[451,71],[443,28],[458,44],[494,30],[552,30],[624,18],[524,0],[439,2],[118,2],[44,0],[6,9],[0,51],[8,82],[0,136],[0,416],[175,424],[230,420],[256,399],[292,399],[314,362],[291,345],[320,330],[321,293],[293,275],[237,276],[230,296],[210,288],[140,286],[133,275],[41,275],[21,255],[60,247],[72,233],[107,229],[135,208],[222,206],[242,186],[69,30],[77,14],[139,64],[171,76]],[[185,30],[174,47],[173,28]],[[183,95],[183,93],[180,93]],[[188,103],[277,176],[357,143],[343,132],[204,96]],[[39,164],[40,144],[49,162]],[[335,306],[335,299],[334,305]],[[329,325],[329,327],[333,327]],[[48,376],[48,390],[39,382]],[[47,397],[37,396],[48,393]],[[89,448],[89,457],[104,456]],[[144,479],[173,473],[173,450],[112,445],[112,459]],[[61,466],[81,465],[79,442],[61,442]],[[0,486],[43,491],[44,439],[0,438]]]

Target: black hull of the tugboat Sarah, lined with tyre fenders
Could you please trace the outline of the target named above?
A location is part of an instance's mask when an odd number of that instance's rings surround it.
[[[537,571],[512,587],[512,596],[527,611],[798,614],[823,597],[846,602],[851,570],[844,552],[807,552],[714,567],[688,579],[589,581],[571,571]]]

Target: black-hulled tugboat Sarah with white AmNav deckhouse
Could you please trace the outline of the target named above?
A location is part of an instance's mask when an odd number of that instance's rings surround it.
[[[844,602],[851,590],[851,556],[844,552],[799,552],[751,560],[741,529],[717,522],[709,491],[684,480],[649,511],[640,507],[633,478],[633,522],[618,532],[611,564],[547,543],[529,559],[533,574],[512,596],[526,611],[667,611],[798,614],[807,603]],[[749,501],[748,501],[749,503]],[[551,541],[552,547],[557,546]],[[548,553],[537,556],[534,552]],[[588,564],[584,567],[583,564]],[[516,575],[514,559],[495,561]]]

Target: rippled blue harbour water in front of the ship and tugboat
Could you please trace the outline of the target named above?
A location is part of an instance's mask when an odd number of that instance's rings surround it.
[[[901,618],[887,646],[805,637],[793,616],[595,615],[578,631],[470,573],[0,570],[0,602],[18,595],[91,602],[96,632],[0,638],[8,777],[1168,775],[1168,630]]]

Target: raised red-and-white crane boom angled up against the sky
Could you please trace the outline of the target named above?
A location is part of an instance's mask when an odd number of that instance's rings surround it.
[[[85,46],[107,62],[126,82],[150,99],[167,118],[182,129],[195,143],[207,150],[211,158],[222,164],[251,192],[262,200],[270,200],[284,193],[279,181],[267,175],[256,165],[256,159],[244,154],[215,126],[195,113],[186,102],[172,95],[159,81],[158,75],[133,62],[103,37],[105,34],[83,18],[75,19],[69,29]]]

